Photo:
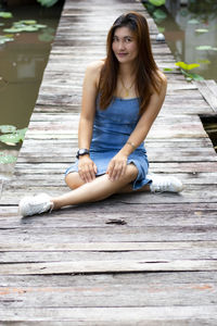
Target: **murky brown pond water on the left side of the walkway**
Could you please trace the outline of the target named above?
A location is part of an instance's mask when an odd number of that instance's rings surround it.
[[[13,17],[0,17],[0,24],[3,24],[0,35],[9,34],[3,29],[23,20],[34,20],[47,27],[34,33],[13,34],[13,41],[0,45],[0,125],[28,126],[62,7],[63,1],[59,1],[52,8],[29,4],[3,9],[10,11]],[[0,152],[16,156],[20,147],[0,142]],[[12,172],[13,164],[0,164],[0,177],[10,176]]]

